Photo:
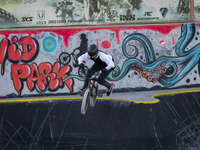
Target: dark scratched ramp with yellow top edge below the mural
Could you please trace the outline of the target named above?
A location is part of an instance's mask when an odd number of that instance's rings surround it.
[[[183,90],[152,103],[101,98],[85,115],[80,97],[1,100],[1,149],[198,150],[199,96]]]

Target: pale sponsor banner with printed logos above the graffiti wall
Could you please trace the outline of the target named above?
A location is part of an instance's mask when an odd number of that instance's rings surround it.
[[[189,20],[189,0],[0,0],[1,28]]]

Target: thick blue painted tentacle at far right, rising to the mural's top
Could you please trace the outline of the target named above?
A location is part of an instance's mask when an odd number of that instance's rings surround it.
[[[160,83],[166,86],[172,86],[183,79],[198,63],[200,55],[200,43],[189,48],[189,44],[194,40],[196,26],[195,24],[183,24],[181,37],[176,45],[178,57],[167,58],[177,66],[176,73],[173,76],[164,76]]]

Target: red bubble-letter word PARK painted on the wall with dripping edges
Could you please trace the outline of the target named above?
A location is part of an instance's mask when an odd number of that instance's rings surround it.
[[[27,87],[33,91],[37,87],[43,91],[48,88],[49,91],[55,91],[59,87],[63,87],[63,79],[71,72],[70,66],[61,68],[60,63],[55,63],[52,67],[50,63],[42,63],[39,67],[33,63],[28,64],[12,64],[11,77],[14,87],[18,94],[21,95],[23,89],[23,81],[27,82]],[[73,79],[64,81],[70,92],[73,91]]]

